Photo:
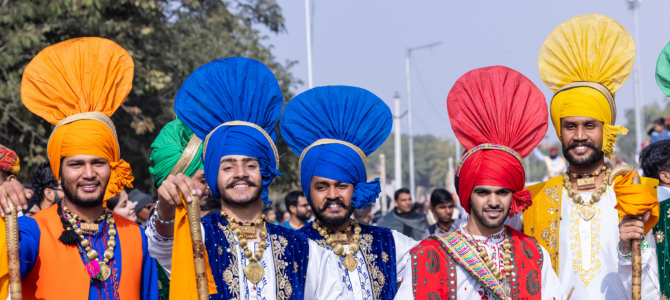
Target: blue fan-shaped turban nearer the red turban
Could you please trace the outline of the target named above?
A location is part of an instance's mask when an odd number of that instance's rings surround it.
[[[379,197],[379,178],[366,182],[364,162],[393,126],[391,110],[379,97],[349,86],[313,88],[286,105],[280,126],[291,150],[302,156],[300,183],[308,199],[312,176],[353,184],[356,208]]]

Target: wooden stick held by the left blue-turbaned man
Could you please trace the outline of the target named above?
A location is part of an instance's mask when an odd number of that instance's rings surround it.
[[[207,289],[207,275],[205,270],[205,244],[202,242],[200,230],[200,197],[191,195],[193,201],[186,204],[186,216],[191,229],[191,244],[193,245],[193,265],[195,266],[195,282],[198,287],[198,299],[209,299]]]

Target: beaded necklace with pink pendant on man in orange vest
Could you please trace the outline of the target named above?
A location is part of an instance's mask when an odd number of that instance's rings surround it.
[[[98,252],[91,249],[91,242],[84,237],[84,234],[96,234],[98,232],[98,224],[94,222],[85,222],[79,218],[76,214],[72,214],[65,203],[63,202],[63,211],[68,222],[70,222],[71,227],[66,228],[66,230],[73,230],[79,235],[79,244],[86,252],[86,258],[88,258],[88,263],[86,264],[86,270],[91,276],[92,279],[97,279],[99,281],[106,281],[112,275],[112,269],[109,267],[109,261],[114,258],[114,247],[116,247],[116,227],[114,226],[114,217],[112,212],[105,207],[105,210],[98,219],[98,221],[104,221],[107,219],[107,226],[109,230],[107,234],[109,235],[109,240],[107,241],[107,250],[104,252],[104,259],[100,261],[98,258]],[[79,220],[79,226],[77,226],[77,220]]]

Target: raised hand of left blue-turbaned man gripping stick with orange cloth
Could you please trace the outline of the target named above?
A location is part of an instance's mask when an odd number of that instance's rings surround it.
[[[158,188],[158,214],[161,219],[174,219],[175,207],[182,205],[180,194],[184,194],[184,199],[190,203],[193,201],[191,195],[202,196],[202,191],[195,188],[191,177],[184,174],[168,175]]]

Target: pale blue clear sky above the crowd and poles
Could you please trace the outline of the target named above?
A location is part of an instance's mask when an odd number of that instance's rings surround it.
[[[280,62],[298,62],[291,72],[307,89],[305,3],[278,0],[287,32],[266,33],[266,44]],[[412,53],[414,133],[453,137],[446,98],[465,72],[504,65],[529,77],[551,99],[540,80],[537,55],[544,39],[574,16],[609,16],[632,34],[628,0],[561,1],[437,1],[437,0],[312,0],[314,86],[351,85],[370,90],[393,109],[393,95],[406,109],[405,49],[442,42]],[[639,43],[636,64],[642,67],[645,104],[661,103],[664,95],[654,71],[660,51],[670,41],[670,1],[645,0],[638,9]],[[632,79],[632,76],[631,76]],[[618,123],[634,106],[633,81],[616,94]],[[647,124],[649,125],[649,124]],[[407,132],[407,118],[401,123]],[[553,127],[548,135],[555,140]]]

